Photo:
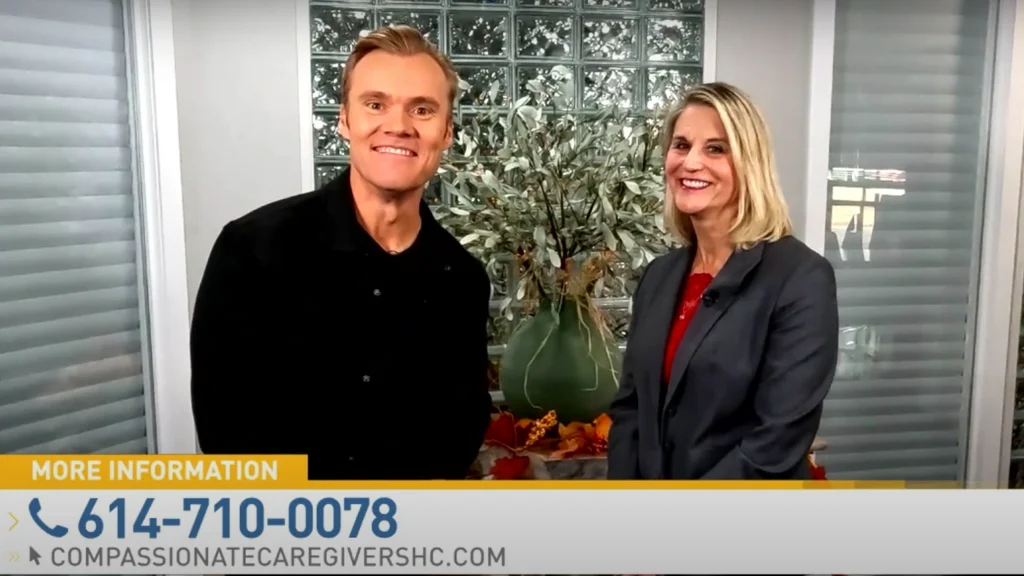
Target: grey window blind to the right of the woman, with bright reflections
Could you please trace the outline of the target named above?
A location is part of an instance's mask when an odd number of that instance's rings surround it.
[[[965,468],[992,40],[985,0],[839,0],[826,251],[829,477]]]

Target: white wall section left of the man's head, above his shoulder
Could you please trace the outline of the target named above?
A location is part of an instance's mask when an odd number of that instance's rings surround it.
[[[221,227],[301,190],[290,0],[173,0],[189,304]],[[190,310],[190,308],[189,308]]]

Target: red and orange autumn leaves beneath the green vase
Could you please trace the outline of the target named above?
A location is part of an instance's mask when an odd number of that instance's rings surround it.
[[[540,418],[516,418],[511,412],[492,415],[477,459],[485,480],[543,480],[547,460],[604,456],[611,418],[601,414],[592,422],[558,422],[555,411]]]

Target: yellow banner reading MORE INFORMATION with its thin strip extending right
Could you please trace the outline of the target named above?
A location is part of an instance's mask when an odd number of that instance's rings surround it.
[[[0,455],[0,490],[900,490],[906,482],[344,481],[310,482],[305,456]]]

